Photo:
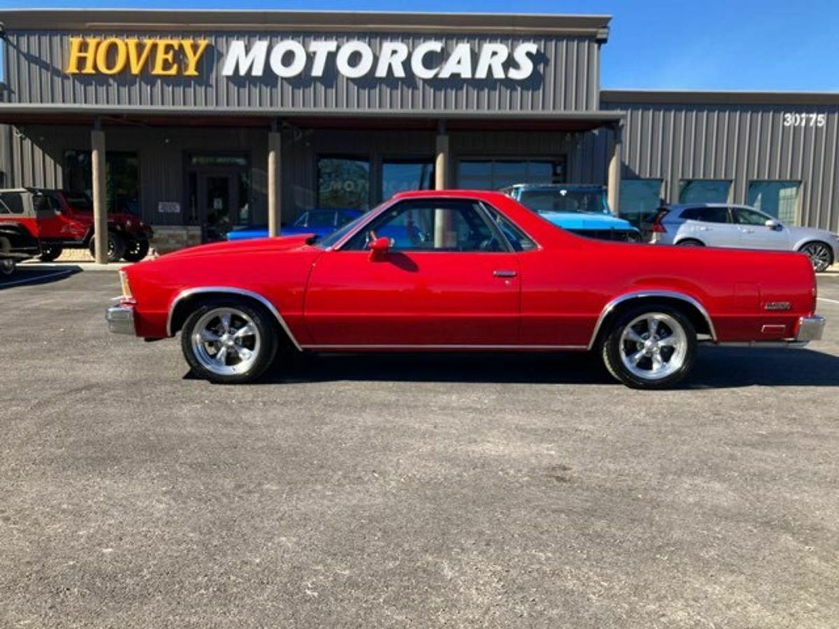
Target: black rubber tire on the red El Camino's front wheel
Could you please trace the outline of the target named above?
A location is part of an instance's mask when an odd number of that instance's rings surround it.
[[[219,337],[217,350],[215,346],[216,344],[209,341],[202,342],[197,338],[195,338],[194,342],[193,338],[194,335],[201,334],[201,330],[203,330],[205,326],[205,321],[210,320],[211,323],[214,320],[214,313],[225,310],[238,311],[243,315],[237,317],[234,314],[232,316],[228,331],[229,329],[232,329],[234,325],[241,325],[242,322],[246,325],[248,323],[253,323],[253,326],[258,331],[257,335],[253,335],[253,343],[249,345],[251,350],[256,351],[256,355],[253,356],[253,361],[248,366],[235,373],[221,373],[214,371],[214,368],[216,370],[235,369],[238,365],[241,365],[244,362],[244,360],[239,363],[235,362],[240,358],[238,351],[233,352],[233,361],[227,361],[227,358],[224,359],[224,366],[222,366],[221,363],[215,363],[212,361],[212,358],[214,356],[218,356],[218,353],[221,351],[223,343],[221,339],[223,339],[223,335],[220,335]],[[248,319],[250,320],[249,322]],[[244,326],[242,325],[238,328],[238,330],[241,330],[242,327]],[[218,331],[220,332],[221,330]],[[242,343],[244,343],[244,341],[242,341]],[[241,347],[242,346],[240,346],[240,348]],[[262,306],[253,304],[247,300],[236,298],[218,298],[202,302],[195,311],[190,313],[190,316],[184,323],[184,327],[180,331],[180,348],[184,352],[184,357],[187,363],[189,363],[192,372],[195,376],[201,377],[210,382],[215,382],[216,384],[241,384],[243,382],[253,382],[253,380],[260,377],[274,361],[274,356],[277,355],[278,347],[279,329],[274,321],[274,317]],[[210,350],[216,350],[216,354],[210,355]],[[232,364],[228,366],[227,362],[232,362]],[[215,366],[213,368],[208,367],[211,364]]]

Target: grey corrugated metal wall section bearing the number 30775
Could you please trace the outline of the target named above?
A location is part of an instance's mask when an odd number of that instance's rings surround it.
[[[690,96],[688,96],[690,97]],[[759,179],[801,182],[801,225],[839,231],[839,106],[602,102],[627,112],[623,179],[664,179],[678,200],[681,179],[732,179],[732,202]],[[825,114],[819,127],[784,126],[784,114]],[[603,143],[611,134],[602,133]]]

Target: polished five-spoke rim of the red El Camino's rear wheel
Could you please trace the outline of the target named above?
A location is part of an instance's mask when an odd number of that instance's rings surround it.
[[[660,380],[678,372],[685,364],[687,348],[685,329],[663,312],[635,317],[621,332],[623,366],[644,380]]]

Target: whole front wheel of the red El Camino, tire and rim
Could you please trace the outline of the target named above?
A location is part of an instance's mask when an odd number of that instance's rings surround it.
[[[277,354],[278,338],[264,309],[237,300],[215,300],[190,314],[180,346],[196,376],[236,384],[263,374]]]

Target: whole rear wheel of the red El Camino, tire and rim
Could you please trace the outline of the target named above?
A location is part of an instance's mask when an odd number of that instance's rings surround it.
[[[628,387],[664,389],[696,360],[696,329],[680,310],[649,304],[619,314],[602,344],[603,362]]]

